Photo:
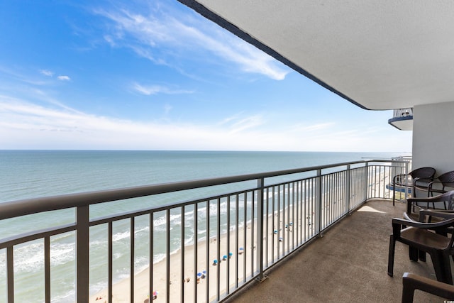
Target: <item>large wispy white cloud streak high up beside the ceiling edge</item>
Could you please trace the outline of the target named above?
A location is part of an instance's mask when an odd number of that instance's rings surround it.
[[[96,10],[114,23],[104,39],[114,47],[128,47],[156,64],[170,65],[170,57],[206,60],[205,53],[222,62],[235,64],[243,72],[258,73],[281,80],[289,73],[274,58],[240,38],[218,28],[202,17],[189,16],[165,4],[146,6],[148,11],[131,9]],[[162,9],[165,8],[165,9]],[[172,63],[175,64],[175,63]]]

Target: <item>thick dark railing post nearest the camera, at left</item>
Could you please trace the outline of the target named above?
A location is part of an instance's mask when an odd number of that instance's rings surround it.
[[[77,303],[89,301],[89,206],[77,207]],[[109,298],[111,302],[111,298]]]

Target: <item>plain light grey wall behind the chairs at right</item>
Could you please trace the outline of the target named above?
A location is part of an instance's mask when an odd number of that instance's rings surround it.
[[[454,170],[454,102],[415,106],[413,119],[414,169]]]

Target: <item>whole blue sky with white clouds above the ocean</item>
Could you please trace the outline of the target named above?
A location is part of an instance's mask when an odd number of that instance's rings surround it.
[[[411,152],[176,0],[0,1],[0,149]]]

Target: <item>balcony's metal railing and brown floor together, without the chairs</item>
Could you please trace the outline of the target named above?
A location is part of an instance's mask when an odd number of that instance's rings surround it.
[[[390,219],[404,209],[392,206],[387,184],[410,165],[358,161],[0,204],[2,224],[48,211],[75,217],[3,233],[0,287],[7,291],[0,301],[55,302],[70,285],[60,302],[141,303],[156,292],[154,302],[395,302],[404,272],[433,276],[430,261],[411,263],[401,246],[394,278],[386,272]],[[143,199],[160,206],[140,209]],[[106,211],[116,203],[126,210]],[[51,258],[62,238],[74,251],[65,265]],[[120,245],[127,250],[123,259],[116,258]],[[24,249],[41,250],[33,272],[18,266]],[[145,269],[137,266],[143,258]],[[61,266],[73,277],[65,285],[55,279]],[[118,277],[118,270],[128,277]],[[33,293],[21,289],[28,275],[43,277]]]

